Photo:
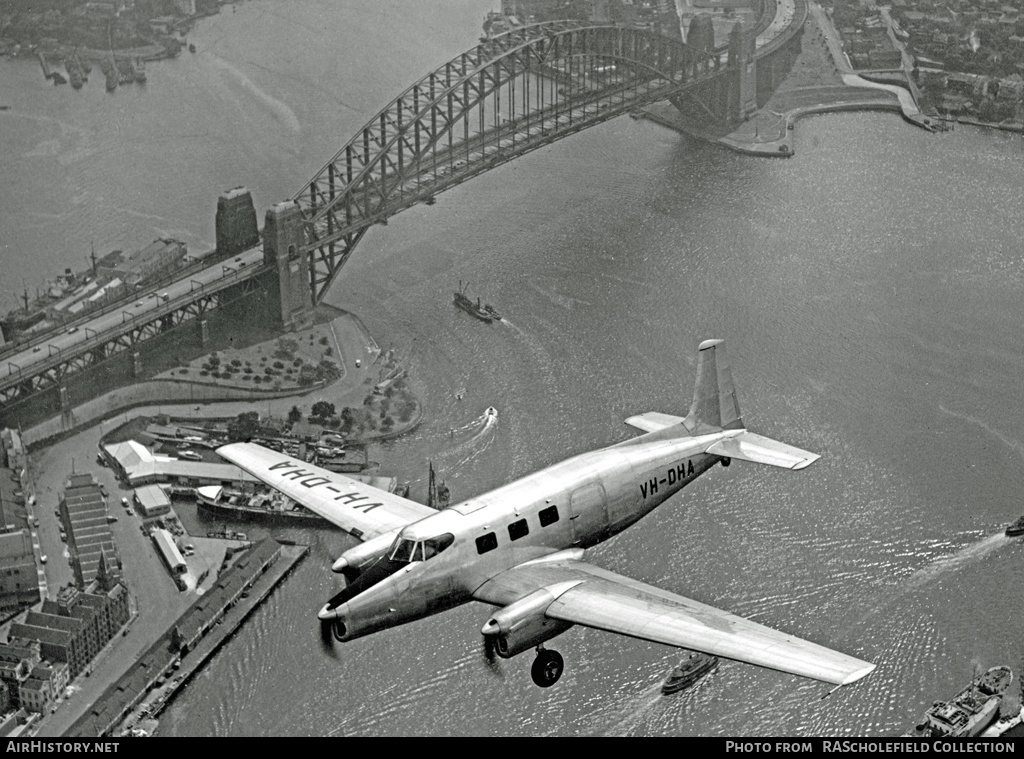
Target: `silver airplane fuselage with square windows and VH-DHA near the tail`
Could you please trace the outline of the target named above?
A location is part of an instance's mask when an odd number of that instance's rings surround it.
[[[392,535],[414,546],[438,536],[453,540],[425,560],[407,561],[400,568],[391,562],[383,579],[333,608],[329,604],[321,618],[335,619],[337,637],[350,640],[465,603],[474,590],[523,561],[596,545],[723,461],[703,453],[722,436],[650,432],[581,454],[407,525]],[[398,540],[393,542],[397,546]]]

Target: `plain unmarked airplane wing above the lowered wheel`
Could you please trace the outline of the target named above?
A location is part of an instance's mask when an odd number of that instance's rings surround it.
[[[705,651],[837,685],[859,680],[874,665],[742,617],[577,560],[562,551],[507,570],[473,594],[501,606],[546,589],[545,617],[598,630]]]

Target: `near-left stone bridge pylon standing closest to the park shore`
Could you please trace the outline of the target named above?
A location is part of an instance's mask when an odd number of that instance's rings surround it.
[[[303,255],[302,212],[295,201],[285,201],[266,212],[263,224],[263,262],[278,273],[278,302],[285,329],[294,332],[312,324],[309,256]]]

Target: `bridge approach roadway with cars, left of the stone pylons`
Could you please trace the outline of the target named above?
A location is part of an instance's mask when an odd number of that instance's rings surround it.
[[[164,283],[155,292],[139,292],[134,300],[75,322],[59,332],[47,332],[0,357],[0,404],[25,382],[61,372],[77,356],[103,348],[106,355],[129,348],[146,327],[181,312],[196,303],[206,303],[216,294],[266,270],[262,246],[250,248],[229,260],[218,261],[182,279]],[[164,295],[166,294],[166,299]],[[205,310],[205,305],[202,310]],[[197,315],[195,313],[187,315]],[[184,320],[180,320],[184,321]],[[128,337],[127,343],[118,342]],[[54,378],[59,380],[59,376]]]

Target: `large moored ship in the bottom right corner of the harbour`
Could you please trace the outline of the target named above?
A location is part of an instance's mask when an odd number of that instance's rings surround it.
[[[995,721],[1014,679],[1009,667],[992,667],[949,701],[937,701],[907,737],[971,737]]]

